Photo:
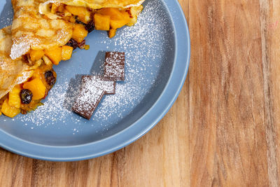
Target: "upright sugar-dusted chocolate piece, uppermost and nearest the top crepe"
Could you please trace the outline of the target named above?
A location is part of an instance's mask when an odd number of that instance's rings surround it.
[[[125,81],[125,53],[106,52],[104,79],[107,81]]]

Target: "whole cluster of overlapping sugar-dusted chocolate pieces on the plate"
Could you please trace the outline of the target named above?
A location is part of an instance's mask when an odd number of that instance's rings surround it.
[[[125,53],[106,52],[104,76],[83,76],[72,111],[89,120],[105,94],[115,94],[116,81],[125,80]]]

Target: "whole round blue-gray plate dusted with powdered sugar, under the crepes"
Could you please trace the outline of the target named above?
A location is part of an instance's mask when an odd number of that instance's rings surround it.
[[[0,0],[0,26],[13,20],[10,0]],[[116,151],[139,139],[165,116],[185,81],[190,60],[188,26],[176,0],[146,0],[134,27],[113,39],[87,36],[90,50],[76,50],[54,69],[57,83],[43,106],[11,119],[0,116],[0,146],[27,157],[72,161]],[[125,81],[106,95],[90,120],[71,112],[80,76],[102,74],[106,51],[125,52]]]

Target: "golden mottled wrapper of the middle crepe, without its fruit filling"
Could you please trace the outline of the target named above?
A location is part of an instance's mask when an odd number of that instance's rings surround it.
[[[13,46],[10,57],[15,60],[30,49],[42,50],[64,46],[73,32],[73,24],[65,20],[50,20],[38,12],[44,0],[12,0],[14,19]]]

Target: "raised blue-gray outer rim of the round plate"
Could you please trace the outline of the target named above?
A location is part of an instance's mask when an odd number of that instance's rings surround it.
[[[181,88],[183,87],[183,83],[186,80],[186,76],[188,74],[188,67],[190,64],[190,33],[183,10],[179,2],[176,0],[161,1],[163,4],[165,4],[168,13],[171,16],[172,24],[174,27],[174,66],[172,68],[172,72],[169,76],[169,80],[167,81],[164,90],[162,91],[158,99],[155,101],[153,106],[151,106],[151,108],[148,109],[148,111],[146,111],[146,113],[144,113],[144,115],[141,116],[141,118],[136,120],[129,127],[125,128],[124,130],[121,130],[116,134],[113,134],[110,137],[106,137],[105,139],[101,139],[99,141],[74,146],[50,146],[37,144],[31,141],[20,139],[18,137],[13,136],[12,134],[8,134],[6,132],[3,132],[3,130],[0,130],[0,137],[2,141],[0,143],[0,147],[10,152],[39,160],[87,160],[90,158],[97,158],[99,156],[112,153],[114,151],[118,151],[120,148],[132,144],[132,142],[144,136],[144,134],[146,134],[149,130],[155,127],[155,125],[158,122],[160,122],[160,120],[165,116],[167,111],[171,109],[172,105],[179,96]],[[182,55],[182,53],[186,53],[186,55]],[[177,69],[179,71],[176,71]],[[179,80],[180,82],[176,83],[175,85],[173,80]],[[170,99],[166,101],[165,98],[167,97],[170,97]],[[94,149],[97,146],[99,146],[100,150]],[[100,148],[101,146],[102,148]],[[73,153],[76,153],[76,155],[73,155]],[[69,156],[66,157],[65,155]]]

